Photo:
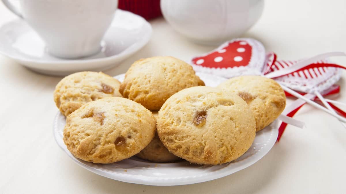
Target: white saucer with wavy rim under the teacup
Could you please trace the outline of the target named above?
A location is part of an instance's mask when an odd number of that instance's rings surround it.
[[[0,53],[43,74],[66,76],[78,71],[102,71],[117,66],[141,49],[152,31],[144,18],[118,9],[101,43],[101,52],[69,60],[49,55],[36,32],[24,20],[15,20],[0,27]]]

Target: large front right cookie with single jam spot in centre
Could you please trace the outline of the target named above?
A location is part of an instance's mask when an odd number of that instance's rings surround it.
[[[255,118],[242,98],[206,86],[183,89],[167,99],[156,127],[161,142],[174,155],[211,165],[243,155],[256,132]]]

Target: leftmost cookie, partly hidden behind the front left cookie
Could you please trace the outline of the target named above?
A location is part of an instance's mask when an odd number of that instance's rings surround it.
[[[117,96],[120,82],[102,72],[83,71],[64,77],[55,87],[54,101],[66,117],[82,105]]]

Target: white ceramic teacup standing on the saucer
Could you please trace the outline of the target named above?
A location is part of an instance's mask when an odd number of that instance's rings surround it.
[[[20,12],[2,1],[38,33],[50,54],[61,58],[99,52],[118,7],[118,0],[20,0]]]

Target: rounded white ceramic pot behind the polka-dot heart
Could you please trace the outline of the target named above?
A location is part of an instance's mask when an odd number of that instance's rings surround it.
[[[163,16],[177,32],[207,45],[243,35],[263,7],[264,0],[161,0]]]

